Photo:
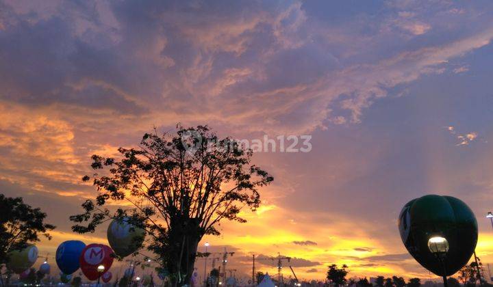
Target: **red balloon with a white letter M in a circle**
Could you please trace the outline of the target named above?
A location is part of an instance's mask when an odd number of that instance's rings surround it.
[[[108,245],[90,244],[82,250],[79,258],[82,273],[90,280],[96,280],[101,275],[97,267],[103,265],[104,270],[110,270],[113,264],[113,250]]]

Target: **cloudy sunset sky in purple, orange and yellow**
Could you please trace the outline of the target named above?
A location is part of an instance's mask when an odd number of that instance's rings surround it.
[[[0,1],[0,192],[48,213],[58,228],[39,247],[53,254],[67,238],[105,242],[105,228],[81,237],[68,222],[96,195],[80,181],[91,154],[177,122],[311,135],[310,152],[256,153],[275,177],[264,205],[205,238],[236,251],[238,273],[279,252],[303,278],[331,263],[434,278],[396,228],[429,193],[472,208],[478,256],[493,262],[492,4]]]

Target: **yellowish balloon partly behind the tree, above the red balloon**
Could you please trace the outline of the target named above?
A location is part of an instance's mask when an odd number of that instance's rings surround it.
[[[108,226],[108,242],[115,254],[129,256],[142,246],[145,232],[129,223],[129,218],[114,219]]]

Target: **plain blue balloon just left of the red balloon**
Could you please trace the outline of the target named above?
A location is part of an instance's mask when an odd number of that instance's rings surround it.
[[[72,274],[79,269],[79,258],[86,244],[82,241],[70,240],[60,244],[56,252],[56,262],[60,271]]]

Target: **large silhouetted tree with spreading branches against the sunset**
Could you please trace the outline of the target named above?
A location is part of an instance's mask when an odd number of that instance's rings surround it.
[[[85,233],[107,218],[129,217],[146,230],[148,249],[173,283],[188,284],[202,236],[220,234],[215,226],[223,219],[245,222],[240,210],[255,210],[260,205],[257,188],[273,177],[251,165],[252,150],[218,139],[207,126],[177,129],[175,136],[145,134],[138,148],[118,149],[121,159],[93,155],[92,168],[107,169],[92,176],[99,195],[95,202],[84,202],[84,213],[71,220],[77,223],[73,231]],[[110,202],[133,206],[111,213],[103,208]]]

